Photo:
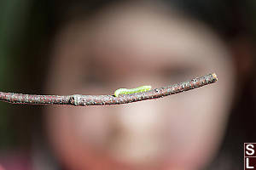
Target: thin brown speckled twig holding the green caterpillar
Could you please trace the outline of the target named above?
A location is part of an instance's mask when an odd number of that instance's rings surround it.
[[[157,99],[172,94],[178,94],[194,88],[201,88],[207,84],[217,82],[215,73],[208,74],[205,77],[193,78],[187,82],[180,82],[164,88],[155,88],[143,93],[124,94],[114,97],[113,95],[33,95],[33,94],[15,94],[0,92],[0,101],[12,104],[30,104],[30,105],[120,105],[131,102],[137,102],[146,99]]]

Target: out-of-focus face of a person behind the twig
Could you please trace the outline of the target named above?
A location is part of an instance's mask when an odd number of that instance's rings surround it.
[[[118,5],[63,27],[50,94],[160,88],[216,72],[217,83],[129,105],[49,106],[49,141],[70,169],[197,169],[224,132],[233,93],[228,49],[206,26],[161,8]]]

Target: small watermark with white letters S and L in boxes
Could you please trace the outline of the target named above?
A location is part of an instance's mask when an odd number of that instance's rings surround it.
[[[256,143],[244,143],[244,170],[256,170]]]

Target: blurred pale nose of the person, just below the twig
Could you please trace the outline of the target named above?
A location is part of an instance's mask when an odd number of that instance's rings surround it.
[[[131,162],[155,160],[160,154],[160,114],[154,101],[122,105],[115,116],[111,153]]]

